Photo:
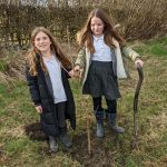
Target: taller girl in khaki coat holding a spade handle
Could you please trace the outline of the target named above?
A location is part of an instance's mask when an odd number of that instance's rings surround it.
[[[79,52],[75,71],[81,72],[82,94],[90,95],[97,120],[97,137],[104,137],[104,109],[101,97],[107,102],[109,127],[124,132],[116,125],[117,99],[120,98],[118,78],[127,78],[121,53],[143,66],[139,55],[125,45],[124,39],[115,31],[109,16],[101,9],[94,9],[85,27],[77,33]]]

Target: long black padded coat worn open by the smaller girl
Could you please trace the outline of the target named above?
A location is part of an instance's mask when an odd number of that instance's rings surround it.
[[[38,76],[31,76],[29,68],[26,70],[26,78],[29,86],[31,99],[35,106],[41,105],[42,114],[40,115],[40,122],[42,131],[48,136],[58,136],[59,127],[57,118],[53,118],[53,91],[50,77],[47,72],[42,71],[37,56],[37,72]],[[66,119],[70,120],[72,129],[76,129],[76,107],[73,96],[68,81],[68,72],[61,69],[62,85],[67,96]]]

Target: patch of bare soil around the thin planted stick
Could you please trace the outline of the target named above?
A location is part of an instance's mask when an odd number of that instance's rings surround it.
[[[104,147],[106,137],[98,139],[95,136],[96,131],[91,134],[91,153],[88,153],[87,134],[80,134],[73,137],[73,147],[71,157],[86,167],[112,167],[115,153]]]

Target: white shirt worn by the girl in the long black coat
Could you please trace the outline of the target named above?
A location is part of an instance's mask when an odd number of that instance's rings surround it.
[[[67,101],[65,88],[62,86],[61,68],[59,60],[55,56],[51,56],[50,59],[46,57],[42,58],[51,80],[55,104]]]

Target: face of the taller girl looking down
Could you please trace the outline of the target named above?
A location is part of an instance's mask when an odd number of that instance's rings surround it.
[[[90,21],[90,29],[94,36],[99,37],[104,33],[104,22],[100,18],[92,17]]]

